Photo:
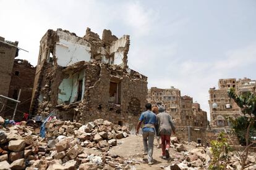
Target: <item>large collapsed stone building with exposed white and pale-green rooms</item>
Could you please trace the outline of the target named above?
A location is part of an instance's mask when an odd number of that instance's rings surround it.
[[[135,124],[147,102],[147,77],[130,70],[130,39],[87,28],[82,38],[48,30],[40,41],[30,114],[85,123],[97,118]]]

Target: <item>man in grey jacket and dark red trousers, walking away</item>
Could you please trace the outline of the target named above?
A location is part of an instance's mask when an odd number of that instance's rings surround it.
[[[164,112],[163,106],[158,108],[158,112],[158,115],[156,115],[156,129],[161,137],[163,159],[166,159],[169,158],[171,134],[175,134],[175,126],[171,116]]]

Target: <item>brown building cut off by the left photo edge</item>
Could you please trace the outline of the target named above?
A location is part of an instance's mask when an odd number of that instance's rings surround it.
[[[19,53],[18,44],[18,41],[7,41],[0,36],[0,95],[7,96],[9,93],[14,59]],[[0,98],[0,102],[1,110],[4,103],[6,103],[6,99]]]

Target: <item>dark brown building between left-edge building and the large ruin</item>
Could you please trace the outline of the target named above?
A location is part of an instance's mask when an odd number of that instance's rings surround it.
[[[29,112],[31,95],[33,91],[33,82],[35,78],[35,70],[36,68],[33,67],[33,65],[31,65],[27,60],[14,60],[8,97],[17,100],[20,91],[20,103],[17,106],[15,120],[22,120],[23,113]],[[15,104],[16,103],[12,102],[11,100],[7,101],[6,109],[3,111],[5,118],[12,118]]]

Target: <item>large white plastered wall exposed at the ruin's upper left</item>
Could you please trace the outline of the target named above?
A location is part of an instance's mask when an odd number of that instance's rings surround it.
[[[57,34],[59,42],[56,43],[54,55],[58,65],[67,67],[76,62],[90,61],[91,46],[87,41],[60,30]]]

